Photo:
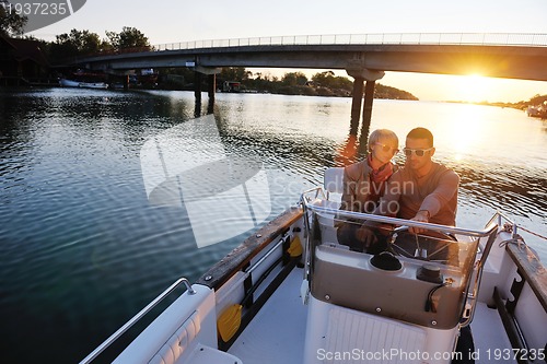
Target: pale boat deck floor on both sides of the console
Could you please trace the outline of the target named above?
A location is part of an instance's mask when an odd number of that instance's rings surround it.
[[[233,343],[229,353],[240,357],[243,363],[302,363],[307,319],[307,306],[302,304],[300,297],[302,277],[302,269],[293,269]],[[511,348],[496,309],[479,303],[472,332],[475,363],[516,363],[511,360],[500,361],[496,356]]]

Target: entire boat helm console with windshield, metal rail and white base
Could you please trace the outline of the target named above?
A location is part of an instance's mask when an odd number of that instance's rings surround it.
[[[454,350],[459,329],[473,319],[494,225],[476,232],[342,211],[322,188],[302,195],[302,204],[307,235],[305,363],[319,363],[316,353],[322,350],[428,355]],[[369,254],[356,251],[359,245],[351,242],[341,245],[341,224],[372,228],[383,239],[382,248]],[[427,232],[410,234],[408,226]],[[484,251],[477,260],[479,246]]]

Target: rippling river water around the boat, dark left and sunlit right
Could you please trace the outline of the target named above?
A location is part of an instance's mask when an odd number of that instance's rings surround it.
[[[191,119],[207,105],[196,109],[193,93],[0,92],[2,363],[80,361],[178,277],[197,279],[249,234],[197,248],[189,204],[149,200],[147,143],[179,137],[178,151],[196,161],[219,143],[231,161],[260,161],[271,220],[321,184],[325,167],[357,158],[350,107],[349,98],[218,94],[218,130],[198,143],[189,130],[206,132]],[[393,129],[404,143],[416,126],[433,131],[435,158],[462,177],[458,225],[481,228],[501,209],[547,235],[545,121],[375,101],[371,129]],[[212,216],[198,216],[200,228],[212,228]],[[524,236],[547,261],[546,243]]]

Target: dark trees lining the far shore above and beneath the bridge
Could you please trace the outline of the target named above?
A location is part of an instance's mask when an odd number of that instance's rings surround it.
[[[7,3],[7,0],[0,0]],[[8,13],[0,7],[0,33],[5,36],[22,36],[26,19],[15,13]],[[124,26],[121,32],[106,32],[106,38],[90,31],[71,30],[56,36],[54,42],[40,43],[40,49],[51,64],[89,55],[101,55],[123,51],[152,50],[148,37],[135,27]],[[165,89],[193,87],[195,73],[188,69],[162,69],[159,71],[161,86]],[[171,75],[171,77],[167,77]],[[237,82],[240,92],[270,92],[295,95],[349,96],[353,83],[345,77],[336,77],[333,71],[317,72],[309,79],[303,72],[288,72],[281,78],[269,73],[253,73],[245,68],[223,68],[218,75],[222,90],[223,82]],[[231,90],[233,91],[233,90]],[[408,92],[395,87],[376,85],[375,97],[417,99]]]

